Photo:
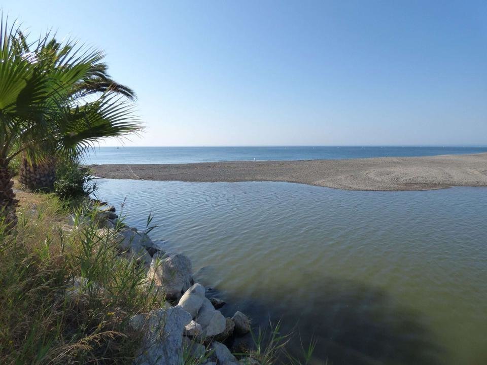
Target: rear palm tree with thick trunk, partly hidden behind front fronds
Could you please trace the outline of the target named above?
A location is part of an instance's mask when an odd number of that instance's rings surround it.
[[[26,41],[26,37],[20,34],[22,41],[22,52],[32,53],[29,49],[29,45]],[[56,67],[56,61],[63,57],[67,52],[71,51],[71,47],[64,46],[57,43],[54,39],[46,44],[39,52],[47,55],[51,67]],[[70,103],[76,103],[78,100],[85,100],[86,98],[93,99],[93,97],[99,97],[101,94],[111,93],[123,95],[129,100],[135,99],[135,93],[127,86],[116,83],[108,74],[108,67],[105,63],[97,62],[90,66],[90,69],[80,79],[76,85],[73,86],[71,94],[67,95],[67,99]],[[113,130],[112,132],[116,132]],[[91,137],[107,137],[107,131],[103,131],[105,135],[97,135],[97,131],[91,130]],[[98,131],[99,133],[99,131]],[[110,134],[110,133],[108,133]],[[56,179],[56,159],[55,153],[45,149],[43,145],[38,145],[36,148],[43,152],[44,158],[37,163],[28,161],[24,156],[20,163],[19,181],[20,183],[30,190],[46,190],[49,191],[54,186]]]

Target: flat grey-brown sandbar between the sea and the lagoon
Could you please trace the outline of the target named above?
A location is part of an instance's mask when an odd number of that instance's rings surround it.
[[[347,160],[90,165],[100,177],[200,182],[287,181],[344,190],[487,186],[487,153]]]

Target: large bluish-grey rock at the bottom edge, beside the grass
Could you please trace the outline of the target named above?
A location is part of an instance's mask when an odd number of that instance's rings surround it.
[[[191,314],[179,306],[133,316],[130,320],[132,327],[144,332],[142,347],[135,363],[137,365],[180,364],[182,334],[184,326],[190,321]]]

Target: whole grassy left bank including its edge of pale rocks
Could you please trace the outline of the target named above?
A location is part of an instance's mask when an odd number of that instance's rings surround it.
[[[1,363],[274,363],[250,345],[232,354],[252,343],[250,319],[225,317],[191,261],[151,240],[150,219],[139,232],[106,202],[15,192],[16,230],[0,224]]]

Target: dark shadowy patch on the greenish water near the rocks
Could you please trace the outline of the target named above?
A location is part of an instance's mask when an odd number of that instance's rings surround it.
[[[419,313],[395,303],[386,291],[350,280],[317,280],[312,303],[295,298],[283,300],[291,287],[280,287],[283,296],[269,301],[228,298],[223,313],[235,310],[252,313],[257,326],[283,319],[283,332],[294,332],[291,352],[301,355],[299,341],[306,347],[317,341],[314,363],[331,364],[418,364],[444,363],[444,349],[435,341]],[[217,294],[211,294],[217,295]],[[275,297],[275,294],[273,294]],[[243,303],[235,306],[232,303]],[[293,327],[293,323],[296,323]],[[299,335],[297,335],[299,333]],[[247,339],[251,343],[251,339]],[[236,344],[236,348],[241,343]],[[325,360],[326,361],[326,360]]]

